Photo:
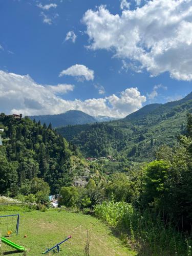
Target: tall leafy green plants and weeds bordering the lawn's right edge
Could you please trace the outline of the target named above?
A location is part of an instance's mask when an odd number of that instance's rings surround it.
[[[137,241],[141,255],[187,255],[189,251],[191,241],[148,210],[141,214],[125,202],[103,202],[95,206],[95,214],[131,241]]]

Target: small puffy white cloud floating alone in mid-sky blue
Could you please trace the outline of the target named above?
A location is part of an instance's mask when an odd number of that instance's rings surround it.
[[[59,74],[59,77],[64,75],[76,76],[80,80],[86,79],[87,81],[94,79],[94,71],[88,69],[84,65],[79,65],[79,64],[76,64],[66,70],[61,71]]]

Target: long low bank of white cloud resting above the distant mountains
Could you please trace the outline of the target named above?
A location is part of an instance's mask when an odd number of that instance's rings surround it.
[[[66,100],[61,94],[73,90],[70,84],[45,86],[29,75],[0,71],[0,108],[7,114],[46,115],[80,110],[93,116],[124,117],[141,108],[146,97],[137,88],[129,88],[119,96],[87,100]]]

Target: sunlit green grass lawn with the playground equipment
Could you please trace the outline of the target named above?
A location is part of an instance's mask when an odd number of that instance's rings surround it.
[[[33,210],[15,213],[20,214],[19,233],[18,236],[13,234],[8,239],[27,249],[26,253],[17,252],[15,255],[41,255],[46,248],[53,247],[70,234],[72,238],[60,245],[59,255],[84,255],[87,228],[90,255],[136,255],[113,235],[108,226],[92,216],[59,212],[56,209],[46,212]],[[14,212],[0,212],[0,215],[8,214]],[[24,238],[25,234],[27,238]],[[0,255],[9,255],[15,250],[2,243],[0,251]],[[52,254],[54,253],[45,255]]]

